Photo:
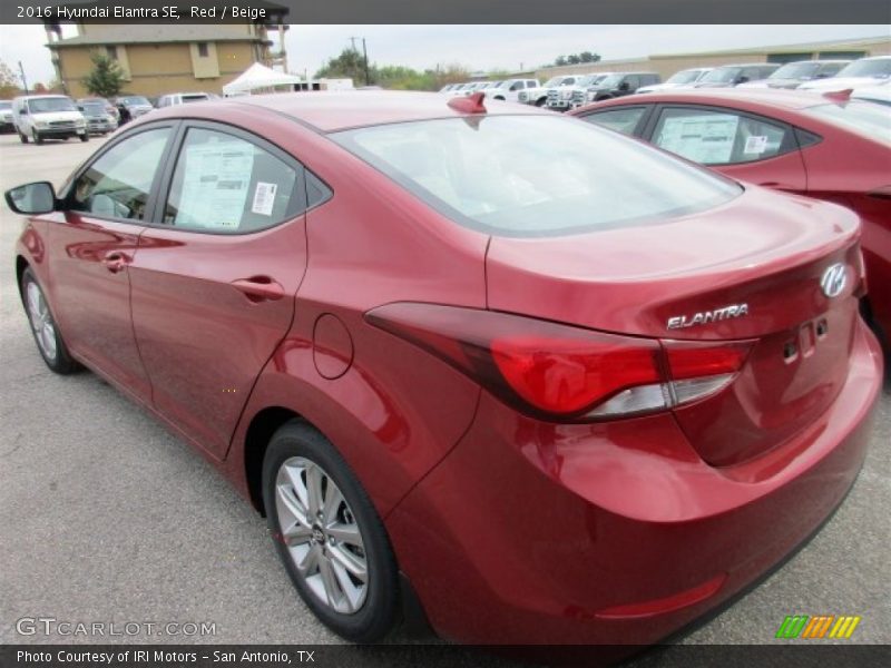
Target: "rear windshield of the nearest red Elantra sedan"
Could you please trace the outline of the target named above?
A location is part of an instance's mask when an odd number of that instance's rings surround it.
[[[501,236],[621,227],[701,212],[742,191],[576,119],[448,118],[330,137],[454,222]]]

